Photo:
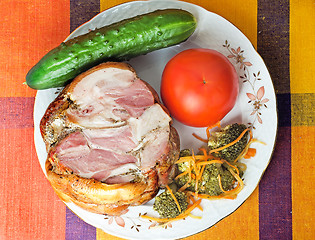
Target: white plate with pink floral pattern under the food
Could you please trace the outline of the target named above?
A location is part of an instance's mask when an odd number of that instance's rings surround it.
[[[195,215],[203,216],[202,220],[187,218],[172,223],[172,227],[167,229],[149,229],[151,223],[139,218],[139,213],[147,212],[150,215],[156,215],[152,209],[153,201],[139,207],[130,207],[128,213],[123,215],[122,218],[116,219],[105,219],[104,215],[92,214],[74,204],[67,203],[67,206],[87,223],[122,238],[175,239],[193,235],[213,226],[235,211],[255,190],[269,164],[276,138],[276,98],[268,70],[250,41],[234,25],[214,13],[180,1],[129,2],[100,13],[76,29],[68,38],[124,18],[164,8],[180,8],[194,14],[198,22],[195,33],[188,41],[180,45],[136,57],[129,63],[143,80],[149,82],[159,92],[160,77],[164,66],[176,53],[196,47],[211,48],[221,52],[229,57],[234,64],[240,76],[241,86],[238,101],[232,111],[223,119],[222,125],[233,122],[251,123],[255,127],[253,130],[254,137],[265,142],[266,145],[258,143],[252,145],[257,149],[257,154],[254,158],[243,161],[247,164],[244,175],[245,187],[235,200],[203,200],[204,211],[194,210]],[[241,61],[237,62],[237,59]],[[56,97],[55,92],[56,89],[38,91],[34,106],[35,145],[44,173],[47,153],[39,132],[39,122],[49,103]],[[255,111],[255,102],[261,104],[258,111]],[[182,149],[197,149],[201,146],[201,142],[192,137],[192,133],[195,132],[205,137],[205,129],[183,126],[176,121],[174,121],[174,126],[179,132]],[[124,222],[125,226],[118,225],[115,220],[118,223]]]

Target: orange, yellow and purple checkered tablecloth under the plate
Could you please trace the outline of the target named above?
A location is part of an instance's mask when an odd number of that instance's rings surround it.
[[[74,215],[34,147],[27,71],[76,27],[126,0],[0,1],[0,239],[118,239]],[[279,128],[259,187],[233,214],[187,239],[315,238],[315,2],[189,0],[237,26],[271,74]]]

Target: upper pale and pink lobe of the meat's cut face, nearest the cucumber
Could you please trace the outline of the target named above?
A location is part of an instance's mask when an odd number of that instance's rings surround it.
[[[87,128],[125,124],[154,104],[152,92],[130,69],[97,70],[73,86],[67,110],[72,122]]]

